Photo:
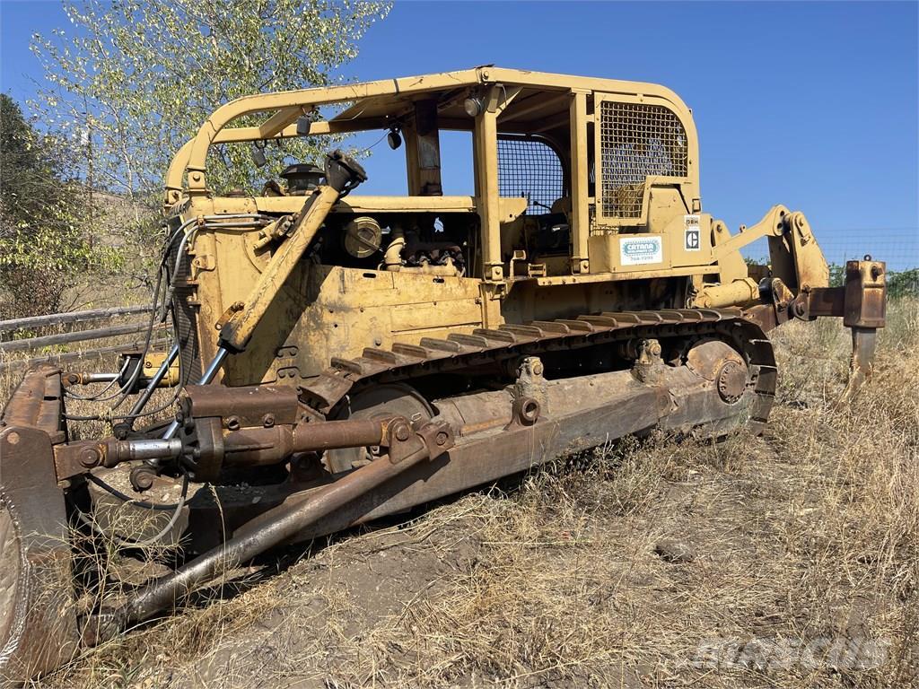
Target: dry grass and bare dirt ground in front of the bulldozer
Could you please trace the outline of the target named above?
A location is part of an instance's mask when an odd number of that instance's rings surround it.
[[[919,683],[919,303],[836,408],[832,322],[776,334],[769,430],[665,437],[267,563],[41,687]]]

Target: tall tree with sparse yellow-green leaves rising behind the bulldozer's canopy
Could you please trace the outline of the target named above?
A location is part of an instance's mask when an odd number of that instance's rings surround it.
[[[33,37],[50,83],[33,107],[51,130],[81,132],[92,184],[131,202],[153,200],[173,154],[216,107],[253,93],[334,83],[335,71],[357,55],[357,40],[389,7],[331,0],[65,3],[74,35]],[[290,141],[274,168],[256,172],[247,148],[221,146],[208,179],[222,190],[252,187],[278,171],[284,154],[310,160],[318,153],[309,139]]]

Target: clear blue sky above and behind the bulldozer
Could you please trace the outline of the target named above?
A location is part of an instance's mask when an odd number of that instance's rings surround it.
[[[695,114],[703,209],[732,230],[783,203],[807,213],[828,254],[919,265],[917,8],[403,0],[370,29],[346,74],[496,63],[664,84]],[[54,2],[0,0],[0,22],[0,88],[21,99],[40,79],[29,36],[66,18]],[[366,193],[401,188],[401,153],[374,149]],[[448,193],[468,191],[450,186],[468,184],[469,155],[460,136],[444,141]]]

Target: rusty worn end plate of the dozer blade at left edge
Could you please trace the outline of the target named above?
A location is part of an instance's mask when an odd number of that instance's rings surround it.
[[[77,649],[71,546],[51,440],[0,429],[0,685],[60,667]]]

